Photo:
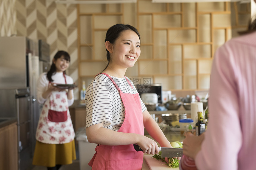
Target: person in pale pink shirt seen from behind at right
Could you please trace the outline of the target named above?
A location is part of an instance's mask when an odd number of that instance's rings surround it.
[[[256,169],[256,19],[215,53],[207,131],[183,140],[182,170]]]

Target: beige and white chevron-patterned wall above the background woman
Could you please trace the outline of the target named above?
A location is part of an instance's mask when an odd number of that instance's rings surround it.
[[[16,0],[15,9],[17,36],[47,42],[51,60],[58,50],[67,51],[71,56],[68,74],[78,82],[77,6],[56,4],[53,0]],[[75,100],[78,98],[76,89]]]

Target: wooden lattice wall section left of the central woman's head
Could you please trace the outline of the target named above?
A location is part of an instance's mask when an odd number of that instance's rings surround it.
[[[133,9],[133,12],[128,15],[134,15],[134,7],[135,4],[80,4],[77,6],[79,90],[82,88],[82,81],[85,81],[87,87],[93,77],[107,66],[105,50],[107,29],[116,23],[128,22],[131,18],[124,17],[124,14]]]

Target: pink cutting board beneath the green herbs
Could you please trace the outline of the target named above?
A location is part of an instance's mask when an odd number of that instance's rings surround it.
[[[148,164],[150,170],[179,170],[179,168],[169,168],[160,160],[152,158],[152,155],[144,155],[144,160]]]

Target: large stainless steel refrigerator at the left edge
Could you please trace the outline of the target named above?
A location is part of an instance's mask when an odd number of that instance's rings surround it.
[[[36,101],[36,82],[40,74],[38,41],[31,40],[24,36],[0,37],[0,88],[29,89],[28,111],[26,116],[26,136],[22,136],[22,123],[18,120],[18,143],[19,143],[19,170],[29,169],[32,166],[32,156],[34,151],[34,118],[39,114],[39,105]],[[0,94],[1,95],[1,94]],[[13,98],[9,95],[8,98]],[[19,104],[17,107],[23,107]],[[5,106],[2,106],[5,107]],[[7,107],[7,106],[6,106]],[[22,113],[25,114],[25,113]],[[27,115],[28,114],[28,115]],[[1,115],[0,115],[1,116]],[[16,115],[17,116],[17,115]],[[22,117],[22,115],[19,115]],[[26,145],[22,144],[22,139],[28,139]],[[24,147],[25,146],[25,147]]]

